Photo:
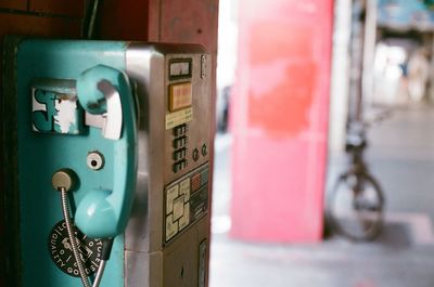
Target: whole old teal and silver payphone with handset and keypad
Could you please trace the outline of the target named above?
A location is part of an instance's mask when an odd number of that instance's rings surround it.
[[[207,286],[209,54],[14,37],[4,60],[11,286]]]

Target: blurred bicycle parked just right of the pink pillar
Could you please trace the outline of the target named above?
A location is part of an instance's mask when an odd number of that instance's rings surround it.
[[[345,148],[350,156],[349,168],[337,178],[326,199],[330,226],[356,242],[374,239],[383,226],[383,191],[365,164],[366,147],[365,127],[353,125]]]

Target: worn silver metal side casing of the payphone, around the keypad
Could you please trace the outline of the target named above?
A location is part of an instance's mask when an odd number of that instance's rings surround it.
[[[204,56],[206,55],[206,56]],[[169,61],[192,58],[191,79],[169,79]],[[206,63],[204,63],[206,61]],[[193,277],[189,287],[195,287],[197,277],[199,245],[209,239],[209,214],[189,227],[173,244],[163,246],[165,227],[165,186],[197,167],[209,162],[212,96],[210,56],[200,45],[130,43],[126,53],[126,71],[135,87],[139,103],[139,167],[136,198],[125,232],[126,286],[167,286],[177,270],[179,260],[190,260],[184,265]],[[204,68],[206,70],[204,70]],[[152,70],[152,73],[151,73]],[[205,76],[206,75],[206,76]],[[205,77],[204,77],[205,76]],[[173,172],[173,130],[165,130],[170,83],[191,80],[193,83],[193,120],[189,126],[189,165]],[[208,153],[195,161],[194,148],[206,145]],[[210,183],[209,183],[210,186]],[[210,198],[210,187],[208,187]],[[208,204],[209,205],[209,204]],[[190,251],[188,251],[190,250]],[[180,255],[180,258],[177,255]],[[187,283],[187,281],[186,281]],[[179,282],[177,283],[179,284]],[[181,285],[180,285],[181,286]],[[183,285],[182,285],[183,286]]]

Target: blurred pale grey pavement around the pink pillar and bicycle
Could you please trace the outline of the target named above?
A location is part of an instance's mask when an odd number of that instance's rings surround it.
[[[218,136],[210,287],[433,287],[434,108],[394,110],[369,139],[367,159],[387,198],[375,243],[260,245],[227,236],[230,136]],[[343,167],[345,157],[332,155],[329,179]]]

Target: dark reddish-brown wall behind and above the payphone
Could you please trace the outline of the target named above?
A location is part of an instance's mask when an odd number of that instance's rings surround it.
[[[85,6],[85,0],[0,0],[0,44],[2,45],[4,35],[78,39]],[[105,0],[97,37],[111,40],[202,43],[213,53],[215,71],[217,18],[218,0]],[[215,75],[213,78],[215,79]],[[3,134],[3,125],[8,122],[0,126],[0,134]],[[0,178],[1,183],[4,180]],[[0,190],[0,286],[4,286],[7,268],[3,258],[8,248],[2,242],[8,236],[8,223],[3,221],[8,207],[4,207],[2,194],[3,191]]]

